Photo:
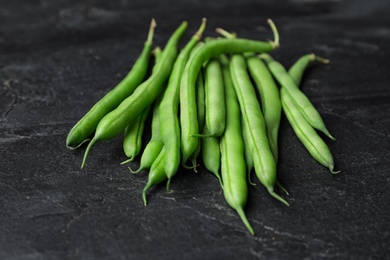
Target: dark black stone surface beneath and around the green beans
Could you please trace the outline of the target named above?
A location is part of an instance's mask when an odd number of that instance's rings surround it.
[[[168,1],[167,1],[168,2]],[[269,1],[271,2],[271,1]],[[389,1],[1,1],[0,259],[389,259]],[[337,138],[332,176],[280,129],[279,179],[290,207],[250,187],[252,237],[203,168],[140,193],[121,138],[65,147],[69,129],[131,68],[150,19],[164,45],[201,17],[242,37],[281,33],[274,56],[327,57],[303,90]],[[184,42],[184,41],[183,41]],[[133,167],[138,161],[133,163]]]

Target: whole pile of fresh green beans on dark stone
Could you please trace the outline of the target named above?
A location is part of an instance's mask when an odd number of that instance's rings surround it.
[[[179,46],[188,29],[186,21],[164,48],[153,48],[156,23],[152,20],[144,48],[128,75],[67,136],[69,149],[89,142],[81,168],[96,142],[122,134],[126,159],[121,164],[139,159],[139,168],[129,167],[130,172],[148,172],[142,190],[146,205],[152,186],[166,182],[169,191],[180,167],[197,172],[201,162],[252,235],[244,211],[248,184],[255,184],[252,172],[273,198],[289,206],[275,189],[288,195],[277,176],[283,113],[308,153],[332,174],[338,173],[321,135],[335,138],[299,88],[310,63],[329,61],[305,54],[286,70],[269,54],[279,47],[279,33],[270,19],[267,22],[272,41],[239,38],[221,28],[216,31],[223,37],[202,41],[203,18],[183,48]],[[150,138],[143,144],[149,128]]]

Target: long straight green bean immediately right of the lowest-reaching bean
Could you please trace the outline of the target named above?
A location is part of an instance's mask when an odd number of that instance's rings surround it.
[[[255,173],[271,196],[288,205],[288,202],[274,191],[276,162],[269,146],[264,118],[249,78],[245,58],[242,55],[233,55],[230,69],[243,121],[249,131],[249,141],[253,144],[251,154]]]

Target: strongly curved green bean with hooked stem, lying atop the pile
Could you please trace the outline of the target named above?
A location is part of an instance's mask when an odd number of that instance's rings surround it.
[[[275,40],[262,42],[247,39],[219,39],[205,43],[189,59],[183,72],[180,87],[180,125],[182,160],[187,161],[198,144],[198,122],[195,98],[196,77],[203,63],[223,53],[269,52],[279,46],[279,36],[276,27],[268,20]]]

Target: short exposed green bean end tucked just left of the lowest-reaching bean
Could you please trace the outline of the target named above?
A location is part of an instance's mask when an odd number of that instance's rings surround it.
[[[209,135],[207,127],[203,127],[203,134]],[[223,187],[222,178],[220,175],[221,169],[221,149],[220,149],[220,138],[217,136],[210,136],[202,138],[202,160],[207,170],[217,177],[221,187]]]

